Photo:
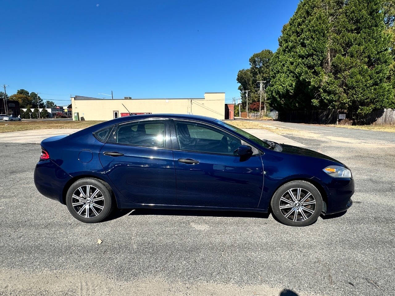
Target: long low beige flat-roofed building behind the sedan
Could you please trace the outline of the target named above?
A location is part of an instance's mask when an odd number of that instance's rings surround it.
[[[110,120],[130,113],[173,113],[225,118],[225,93],[206,92],[203,98],[185,99],[97,99],[71,98],[73,120]]]

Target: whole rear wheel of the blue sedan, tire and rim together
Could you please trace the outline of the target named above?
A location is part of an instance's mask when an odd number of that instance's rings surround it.
[[[113,191],[102,180],[83,178],[67,191],[66,204],[73,217],[85,223],[103,221],[114,208]]]

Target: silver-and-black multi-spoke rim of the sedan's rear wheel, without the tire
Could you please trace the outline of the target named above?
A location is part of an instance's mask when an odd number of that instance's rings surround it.
[[[104,196],[102,191],[93,185],[78,187],[71,197],[71,205],[78,215],[84,218],[93,218],[104,209]]]

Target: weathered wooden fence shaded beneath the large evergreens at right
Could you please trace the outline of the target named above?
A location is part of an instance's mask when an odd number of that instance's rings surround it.
[[[346,118],[338,119],[339,114],[346,114]],[[278,120],[310,124],[395,125],[395,109],[377,109],[356,120],[350,120],[347,112],[342,110],[281,111],[278,112]]]

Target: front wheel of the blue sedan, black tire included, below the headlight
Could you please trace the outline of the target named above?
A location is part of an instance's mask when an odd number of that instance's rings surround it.
[[[301,189],[299,193],[299,200],[297,200],[298,188]],[[293,194],[293,197],[295,198],[295,200],[292,201],[294,202],[293,206],[292,202],[284,202],[284,199],[292,199],[290,195],[291,193],[289,193],[290,190]],[[308,195],[307,192],[311,195]],[[298,203],[299,201],[302,201],[303,198],[306,196],[307,199],[304,201],[303,204]],[[284,199],[281,199],[282,197]],[[315,200],[315,204],[305,205],[305,203],[312,203],[313,199]],[[284,207],[282,209],[280,209],[280,202],[282,203],[281,206]],[[320,191],[318,191],[318,189],[313,184],[307,181],[291,181],[282,185],[276,190],[271,200],[271,209],[276,219],[278,219],[278,221],[285,225],[307,226],[317,221],[318,217],[320,216],[322,211],[322,196]],[[311,213],[313,210],[314,213]],[[288,211],[292,212],[289,213]],[[286,217],[286,215],[288,215],[288,217]]]

